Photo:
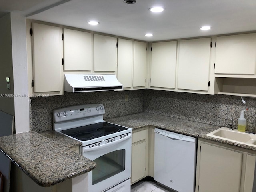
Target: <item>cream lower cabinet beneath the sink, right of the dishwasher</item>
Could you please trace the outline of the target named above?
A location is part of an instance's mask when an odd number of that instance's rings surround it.
[[[196,192],[252,192],[255,155],[198,139]]]

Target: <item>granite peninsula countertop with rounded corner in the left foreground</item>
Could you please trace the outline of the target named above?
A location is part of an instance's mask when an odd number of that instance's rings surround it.
[[[92,160],[33,131],[0,137],[0,150],[42,187],[53,186],[96,167]]]

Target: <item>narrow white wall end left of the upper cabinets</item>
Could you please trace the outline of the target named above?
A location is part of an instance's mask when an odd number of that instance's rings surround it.
[[[14,110],[16,133],[29,131],[28,67],[26,19],[11,13],[12,63],[14,78]]]

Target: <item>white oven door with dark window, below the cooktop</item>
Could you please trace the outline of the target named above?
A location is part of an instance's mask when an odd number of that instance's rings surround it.
[[[131,177],[132,133],[85,146],[82,150],[84,157],[97,164],[88,173],[90,192],[102,192]]]

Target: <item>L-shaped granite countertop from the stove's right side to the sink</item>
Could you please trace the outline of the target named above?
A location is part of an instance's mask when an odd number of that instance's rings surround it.
[[[239,144],[236,142],[231,142],[227,140],[217,139],[213,137],[206,136],[206,134],[220,128],[219,126],[198,123],[188,120],[182,120],[178,118],[172,118],[147,112],[131,114],[116,118],[106,119],[105,121],[119,124],[122,126],[130,127],[132,130],[136,130],[145,126],[154,126],[157,128],[161,128],[164,130],[185,134],[188,136],[193,136],[197,138],[203,138],[207,140],[212,140],[216,142],[220,142],[223,144],[228,144],[252,151],[256,151],[256,147],[248,146],[245,144]]]

